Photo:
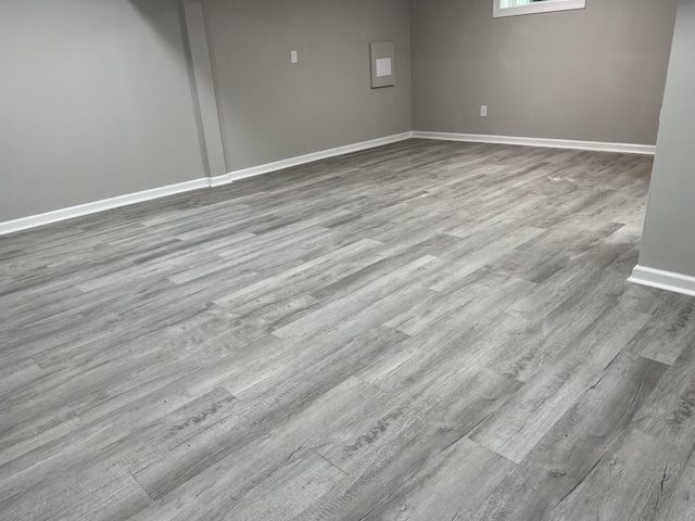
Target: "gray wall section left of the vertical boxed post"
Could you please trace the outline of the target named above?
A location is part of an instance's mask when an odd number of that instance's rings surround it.
[[[202,177],[176,0],[2,0],[0,65],[0,221]]]

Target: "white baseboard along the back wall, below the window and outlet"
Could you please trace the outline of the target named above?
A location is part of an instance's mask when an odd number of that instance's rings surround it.
[[[522,147],[546,147],[553,149],[590,150],[594,152],[619,152],[622,154],[654,155],[656,147],[652,144],[604,143],[601,141],[574,141],[570,139],[517,138],[511,136],[485,136],[478,134],[453,132],[410,132],[413,138],[435,139],[442,141],[464,141],[470,143],[519,144]]]

